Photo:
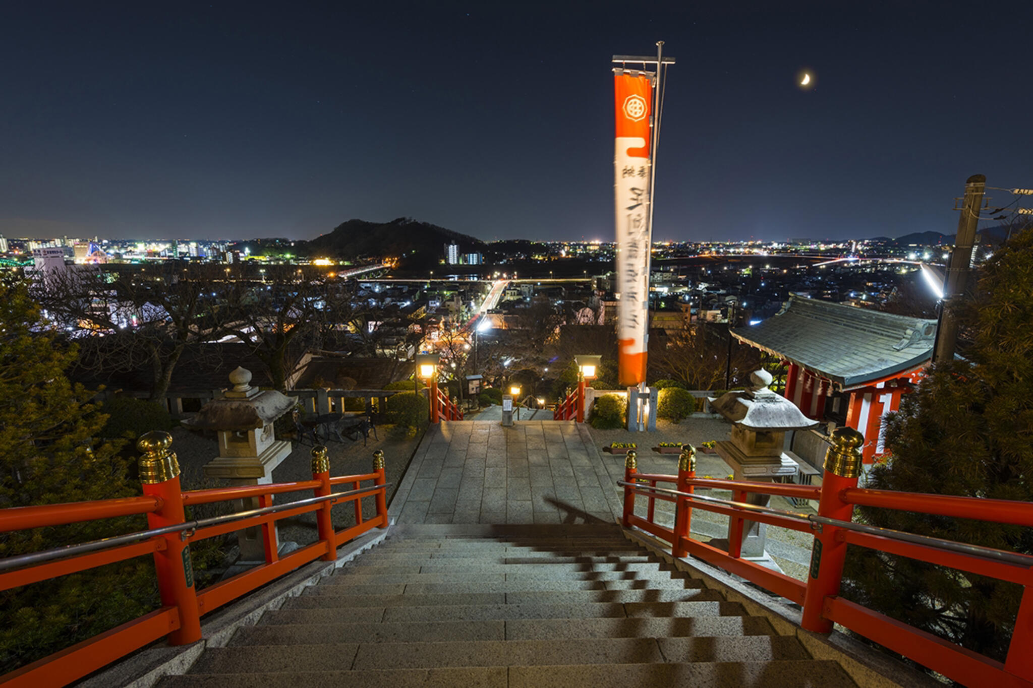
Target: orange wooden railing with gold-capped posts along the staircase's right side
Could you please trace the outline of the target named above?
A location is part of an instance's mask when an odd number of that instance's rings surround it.
[[[889,650],[928,666],[965,685],[1033,686],[1033,557],[999,551],[1012,560],[999,561],[978,554],[949,551],[928,544],[906,542],[884,534],[848,529],[854,505],[896,509],[915,513],[976,519],[1033,527],[1033,503],[1003,499],[976,499],[934,494],[912,494],[857,488],[860,453],[859,433],[840,428],[833,433],[834,445],[825,458],[821,487],[784,485],[753,481],[698,480],[694,457],[684,452],[677,476],[639,473],[634,452],[628,452],[624,476],[625,527],[636,527],[670,544],[676,557],[691,554],[710,564],[751,581],[803,607],[802,626],[827,633],[838,623]],[[863,441],[863,438],[860,438]],[[658,483],[674,483],[671,491],[653,492]],[[801,518],[758,513],[748,505],[697,500],[695,488],[730,490],[734,502],[745,502],[747,494],[779,495],[818,500],[818,517],[839,522],[818,524]],[[646,518],[635,514],[636,497],[647,499]],[[668,528],[655,522],[656,500],[675,502],[675,524]],[[728,551],[693,538],[690,533],[692,510],[729,517]],[[771,510],[774,511],[774,510]],[[814,532],[814,550],[807,582],[773,571],[741,556],[744,523],[754,521],[802,532]],[[862,527],[862,526],[850,526]],[[942,542],[942,540],[941,540]],[[941,566],[987,576],[1025,586],[1019,615],[1003,663],[979,655],[924,630],[879,614],[839,596],[846,546],[855,545]],[[951,544],[953,545],[953,544]],[[962,546],[964,547],[964,546]],[[985,551],[987,554],[991,552]],[[1019,561],[1015,561],[1019,560]]]

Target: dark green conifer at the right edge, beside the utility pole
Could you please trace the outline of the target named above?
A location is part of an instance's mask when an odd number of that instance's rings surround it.
[[[958,310],[965,359],[937,363],[886,422],[891,458],[869,487],[1033,501],[1033,230],[981,269]],[[873,525],[1033,554],[1029,528],[859,509]],[[844,595],[1004,660],[1022,588],[850,548]]]

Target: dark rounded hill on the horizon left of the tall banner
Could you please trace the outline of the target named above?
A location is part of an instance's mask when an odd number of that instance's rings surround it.
[[[478,238],[453,232],[412,218],[398,218],[390,222],[348,220],[327,234],[311,241],[299,242],[295,248],[311,256],[355,259],[366,256],[403,257],[410,253],[442,256],[446,243],[458,243],[460,253],[479,252],[484,242]]]

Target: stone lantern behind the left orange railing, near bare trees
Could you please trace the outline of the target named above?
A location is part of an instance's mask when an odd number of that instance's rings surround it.
[[[229,373],[232,388],[222,398],[209,401],[183,424],[215,430],[219,456],[205,465],[205,476],[230,485],[269,485],[273,469],[290,454],[290,443],[278,440],[273,423],[291,408],[294,400],[276,391],[259,391],[249,384],[251,371],[242,367]],[[258,507],[257,498],[238,500],[240,510]],[[239,531],[241,562],[265,560],[261,528]],[[279,547],[279,539],[277,539]],[[283,548],[280,548],[283,549]]]

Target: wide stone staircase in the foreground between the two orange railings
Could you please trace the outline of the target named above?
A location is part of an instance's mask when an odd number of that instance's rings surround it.
[[[395,526],[162,688],[853,686],[620,528]]]

